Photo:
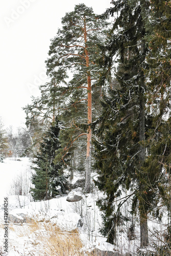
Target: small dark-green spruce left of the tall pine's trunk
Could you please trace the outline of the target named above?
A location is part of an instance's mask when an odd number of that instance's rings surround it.
[[[67,189],[67,176],[63,174],[62,162],[54,163],[56,151],[60,148],[59,132],[61,123],[55,118],[51,123],[33,160],[33,176],[31,188],[34,200],[47,200],[58,195],[57,187],[62,193]]]

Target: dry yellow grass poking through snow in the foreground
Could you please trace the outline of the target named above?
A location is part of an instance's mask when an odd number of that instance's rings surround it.
[[[30,224],[14,226],[18,237],[36,235],[34,246],[41,244],[41,255],[47,256],[83,256],[82,243],[78,230],[61,231],[56,224],[51,222],[32,221]],[[41,232],[44,230],[45,232]],[[47,231],[47,232],[46,232]],[[33,239],[33,237],[32,237]],[[87,255],[94,255],[87,253]]]

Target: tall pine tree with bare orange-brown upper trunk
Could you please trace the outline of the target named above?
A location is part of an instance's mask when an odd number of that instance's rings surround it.
[[[70,74],[68,87],[63,88],[62,92],[62,95],[68,95],[65,115],[70,116],[67,132],[71,132],[63,155],[66,156],[77,138],[82,135],[87,137],[85,187],[87,193],[90,193],[91,184],[92,97],[94,88],[97,90],[96,84],[101,71],[96,64],[96,59],[100,56],[97,44],[104,40],[106,26],[105,20],[98,19],[92,8],[84,4],[76,5],[73,12],[67,13],[62,18],[62,28],[52,39],[50,58],[47,60],[48,74],[51,77],[66,71]],[[84,124],[87,131],[80,129],[80,124]]]

